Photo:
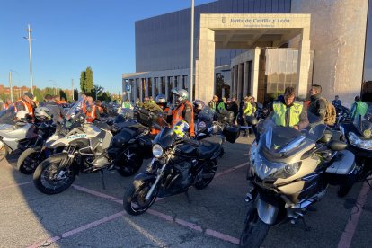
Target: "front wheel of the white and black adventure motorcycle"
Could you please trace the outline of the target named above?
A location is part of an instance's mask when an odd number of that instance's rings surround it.
[[[75,181],[75,170],[68,164],[63,171],[58,170],[58,165],[66,157],[52,156],[41,162],[33,173],[33,183],[44,194],[53,195],[66,190]],[[59,172],[58,172],[59,171]],[[56,177],[63,173],[62,179]]]

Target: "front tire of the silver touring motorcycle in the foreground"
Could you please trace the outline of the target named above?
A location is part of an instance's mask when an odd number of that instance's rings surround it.
[[[256,208],[249,208],[242,235],[240,235],[240,247],[259,248],[266,235],[268,234],[270,226],[264,223],[258,215]]]

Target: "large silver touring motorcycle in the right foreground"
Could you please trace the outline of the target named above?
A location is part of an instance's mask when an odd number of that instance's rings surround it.
[[[355,173],[355,157],[345,150],[340,132],[323,124],[310,126],[302,131],[277,126],[273,116],[259,122],[260,136],[249,153],[241,246],[259,247],[270,226],[298,219],[305,224],[306,208],[322,199],[330,184],[341,185]]]

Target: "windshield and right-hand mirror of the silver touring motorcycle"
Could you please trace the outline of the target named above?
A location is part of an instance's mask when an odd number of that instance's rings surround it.
[[[304,112],[303,118],[319,120],[314,114]],[[265,148],[271,155],[287,155],[288,152],[295,152],[306,140],[316,142],[325,131],[326,126],[314,121],[303,130],[280,125],[279,117],[271,113],[266,120],[261,120],[258,124],[260,132],[259,144]]]

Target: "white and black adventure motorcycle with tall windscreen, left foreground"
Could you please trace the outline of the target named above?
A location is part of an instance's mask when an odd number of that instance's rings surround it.
[[[115,169],[122,176],[132,175],[146,155],[151,155],[149,128],[131,121],[113,136],[111,126],[106,123],[85,123],[82,101],[67,112],[64,123],[46,142],[49,150],[63,148],[63,151],[49,155],[33,174],[35,186],[43,193],[66,190],[80,172],[103,173],[104,169]],[[104,188],[103,177],[102,184]]]

